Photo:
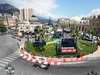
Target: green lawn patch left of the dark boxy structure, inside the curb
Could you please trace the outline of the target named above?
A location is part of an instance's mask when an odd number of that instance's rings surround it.
[[[26,42],[25,48],[29,53],[43,55],[43,56],[56,56],[56,44],[50,43],[44,47],[35,47],[31,42]]]

